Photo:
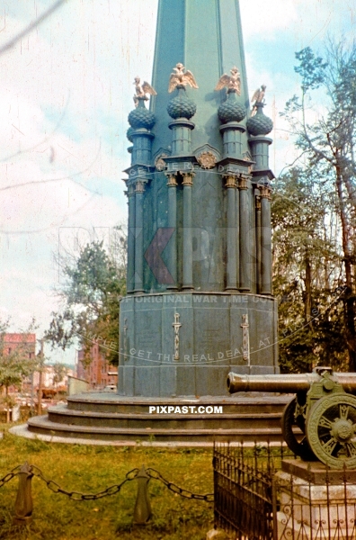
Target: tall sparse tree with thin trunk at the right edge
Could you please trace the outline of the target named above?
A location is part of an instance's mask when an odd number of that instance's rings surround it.
[[[333,184],[341,249],[340,282],[343,295],[344,339],[348,367],[356,371],[354,265],[356,218],[356,43],[349,49],[329,40],[325,59],[312,49],[296,53],[301,94],[294,95],[282,115],[297,137],[297,147],[307,167],[322,172]]]

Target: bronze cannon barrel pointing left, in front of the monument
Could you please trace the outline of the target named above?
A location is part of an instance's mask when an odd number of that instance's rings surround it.
[[[320,381],[319,374],[227,375],[227,390],[236,392],[307,392],[312,383]],[[356,393],[356,373],[334,373],[333,379],[343,385],[343,390]]]

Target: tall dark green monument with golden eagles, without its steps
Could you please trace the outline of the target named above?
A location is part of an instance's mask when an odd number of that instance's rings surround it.
[[[238,0],[160,0],[134,84],[119,394],[227,395],[230,371],[279,372],[272,122],[264,85],[250,110]]]

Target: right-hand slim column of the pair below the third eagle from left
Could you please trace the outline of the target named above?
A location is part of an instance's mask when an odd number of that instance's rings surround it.
[[[240,291],[250,291],[250,257],[251,247],[249,245],[249,198],[248,198],[248,176],[241,175],[238,182],[240,194]]]

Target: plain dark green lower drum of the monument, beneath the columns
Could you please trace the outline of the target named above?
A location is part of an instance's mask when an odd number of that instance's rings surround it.
[[[227,374],[278,374],[277,302],[253,293],[156,293],[120,302],[119,394],[227,396]]]

